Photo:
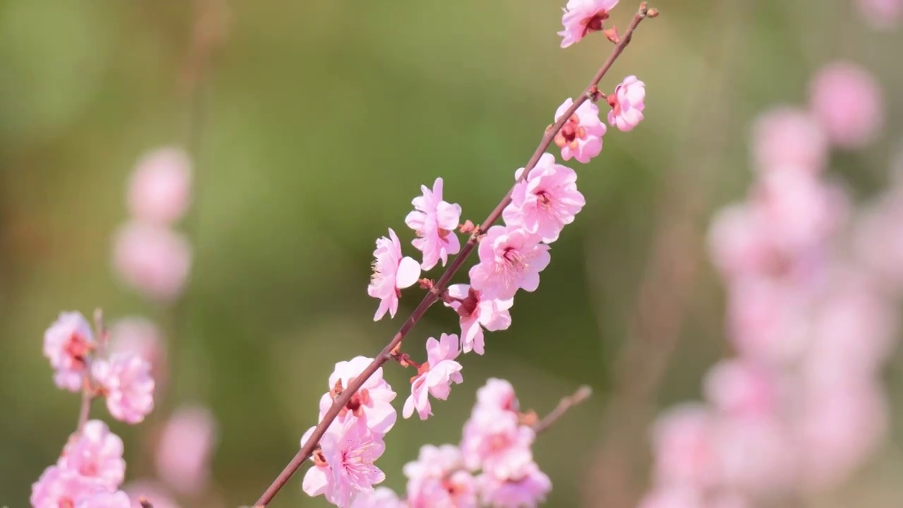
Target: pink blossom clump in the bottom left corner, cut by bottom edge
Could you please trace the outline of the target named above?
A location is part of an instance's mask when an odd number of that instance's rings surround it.
[[[118,490],[126,476],[122,454],[122,439],[104,422],[89,420],[32,485],[33,508],[131,508]]]

